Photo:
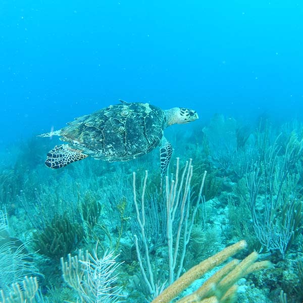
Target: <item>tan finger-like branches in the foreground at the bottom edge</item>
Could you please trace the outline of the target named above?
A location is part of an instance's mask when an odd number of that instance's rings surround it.
[[[169,303],[179,295],[191,283],[202,275],[222,264],[229,257],[246,247],[245,241],[239,241],[226,247],[218,254],[200,262],[198,265],[184,273],[173,284],[167,287],[151,303]],[[179,299],[176,303],[231,303],[236,299],[237,285],[239,279],[245,275],[261,269],[268,268],[271,263],[268,261],[256,262],[257,252],[252,252],[244,260],[232,260],[211,276],[195,292]]]

